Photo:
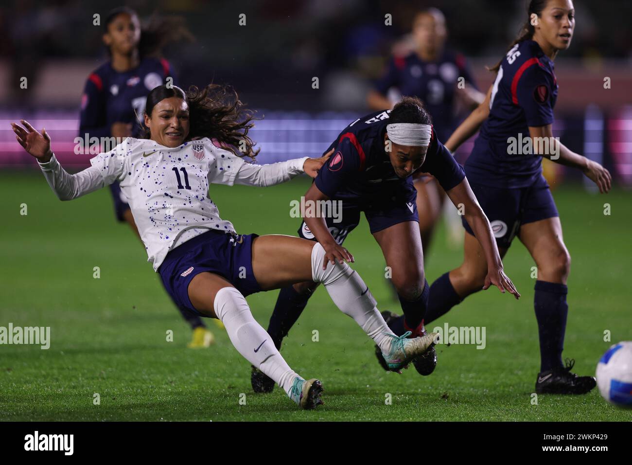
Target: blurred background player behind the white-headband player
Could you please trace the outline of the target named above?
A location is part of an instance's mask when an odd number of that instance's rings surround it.
[[[432,115],[439,140],[447,140],[458,125],[459,113],[476,108],[485,94],[477,90],[465,56],[447,49],[446,39],[446,19],[439,9],[417,13],[412,34],[396,44],[386,73],[368,93],[368,106],[374,110],[391,109],[401,96],[419,97]],[[415,189],[423,254],[427,256],[446,193],[436,179],[423,173],[415,175]],[[453,209],[449,211],[451,232],[457,231],[451,236],[460,239],[459,217]]]

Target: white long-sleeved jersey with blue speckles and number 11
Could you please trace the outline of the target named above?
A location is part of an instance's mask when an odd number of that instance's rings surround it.
[[[305,158],[257,165],[208,139],[169,148],[154,140],[129,137],[111,152],[90,159],[92,166],[70,175],[52,156],[40,163],[61,200],[94,192],[114,181],[128,199],[148,261],[157,271],[174,247],[216,229],[235,233],[209,197],[209,183],[269,186],[303,173]]]

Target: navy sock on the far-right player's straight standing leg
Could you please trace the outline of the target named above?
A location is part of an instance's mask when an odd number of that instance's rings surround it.
[[[535,282],[535,318],[540,335],[540,371],[562,368],[562,350],[566,332],[568,287],[565,284]]]

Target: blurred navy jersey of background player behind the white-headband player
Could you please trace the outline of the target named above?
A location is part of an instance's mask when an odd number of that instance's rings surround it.
[[[454,113],[454,97],[459,77],[476,88],[465,57],[444,51],[437,61],[423,61],[416,53],[396,56],[386,73],[375,83],[375,90],[386,95],[396,87],[403,96],[419,97],[432,115],[439,139],[447,140],[458,122]]]

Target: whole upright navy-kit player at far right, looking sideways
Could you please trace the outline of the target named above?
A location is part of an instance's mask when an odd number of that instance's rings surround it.
[[[574,27],[571,0],[532,0],[520,37],[491,69],[497,73],[496,80],[485,101],[446,142],[446,147],[455,150],[480,127],[465,163],[466,176],[494,227],[501,256],[517,236],[537,264],[533,304],[540,339],[538,394],[585,394],[595,387],[592,376],[571,373],[574,361],[567,361],[566,367],[562,364],[571,257],[562,239],[555,201],[542,176],[542,157],[547,157],[581,170],[600,192],[611,189],[609,171],[552,139],[558,88],[553,60],[570,46]],[[510,139],[519,136],[532,138],[532,153],[510,152]],[[550,143],[538,147],[535,138]],[[427,324],[483,285],[487,263],[471,228],[465,221],[463,226],[467,232],[463,264],[432,283]]]

